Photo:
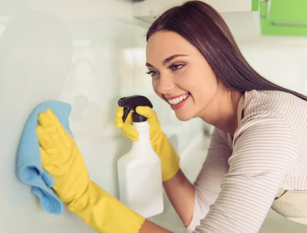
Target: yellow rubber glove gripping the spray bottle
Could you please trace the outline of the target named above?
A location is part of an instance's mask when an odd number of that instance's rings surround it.
[[[179,171],[180,158],[169,142],[167,136],[162,131],[160,122],[155,110],[148,106],[138,106],[136,108],[138,114],[147,118],[150,125],[149,138],[150,143],[161,159],[162,181],[167,181]],[[121,129],[123,135],[137,142],[139,133],[132,124],[132,112],[128,114],[126,121],[123,123],[123,107],[118,107],[115,116],[115,125]]]

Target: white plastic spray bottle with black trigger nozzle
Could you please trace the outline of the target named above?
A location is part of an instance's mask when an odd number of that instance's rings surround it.
[[[144,218],[163,212],[163,185],[160,157],[152,149],[147,118],[136,113],[137,106],[149,106],[143,96],[121,98],[124,107],[123,122],[133,110],[133,127],[139,132],[138,142],[117,162],[120,201]]]

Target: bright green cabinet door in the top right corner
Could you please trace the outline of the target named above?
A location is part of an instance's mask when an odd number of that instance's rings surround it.
[[[259,0],[258,3],[262,35],[307,37],[307,0]]]

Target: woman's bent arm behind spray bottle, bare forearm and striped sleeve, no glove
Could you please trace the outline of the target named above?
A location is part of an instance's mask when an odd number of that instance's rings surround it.
[[[206,161],[194,185],[181,170],[163,182],[171,204],[189,229],[193,230],[200,224],[220,192],[221,181],[229,169],[231,153],[226,133],[214,129]]]

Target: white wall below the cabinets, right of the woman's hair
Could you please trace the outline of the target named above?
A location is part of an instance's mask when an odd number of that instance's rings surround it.
[[[242,45],[240,50],[260,75],[307,95],[306,45]]]

